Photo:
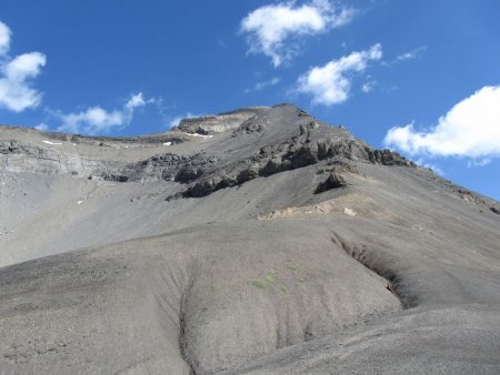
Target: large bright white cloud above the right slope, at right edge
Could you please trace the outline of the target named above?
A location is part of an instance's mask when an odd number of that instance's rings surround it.
[[[500,87],[484,87],[456,104],[438,124],[418,131],[414,124],[392,128],[384,143],[410,155],[500,156]],[[474,165],[484,164],[484,162]]]

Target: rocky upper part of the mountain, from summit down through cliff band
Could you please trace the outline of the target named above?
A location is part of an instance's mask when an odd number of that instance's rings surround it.
[[[87,138],[14,128],[0,132],[0,168],[6,171],[186,185],[174,197],[204,196],[259,176],[331,160],[414,166],[291,104],[186,119],[166,134],[137,138]]]

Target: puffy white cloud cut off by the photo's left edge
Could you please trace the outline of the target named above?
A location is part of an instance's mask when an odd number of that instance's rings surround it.
[[[30,52],[10,58],[11,31],[0,22],[0,108],[22,112],[41,102],[41,93],[32,88],[31,80],[40,74],[47,58],[40,52]]]

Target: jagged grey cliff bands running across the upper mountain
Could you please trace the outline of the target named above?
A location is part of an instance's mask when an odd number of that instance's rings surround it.
[[[11,172],[73,174],[118,182],[178,181],[192,183],[182,196],[204,196],[219,189],[234,186],[257,176],[269,176],[332,158],[383,165],[414,166],[389,150],[373,150],[343,130],[319,126],[316,120],[300,110],[296,112],[301,115],[301,119],[294,125],[296,132],[292,132],[289,139],[280,144],[266,145],[251,153],[241,154],[239,158],[218,153],[216,150],[187,155],[162,152],[172,144],[186,142],[186,136],[189,134],[221,133],[232,130],[230,143],[236,143],[236,138],[246,141],[244,135],[248,134],[249,126],[256,125],[254,119],[259,114],[266,119],[268,112],[279,110],[280,108],[273,110],[250,108],[218,116],[187,119],[181,121],[178,129],[172,132],[172,136],[136,138],[137,143],[132,145],[127,144],[130,143],[130,139],[109,139],[104,143],[102,138],[83,139],[57,133],[50,134],[49,140],[41,140],[38,144],[20,143],[17,140],[2,141],[0,142],[2,154],[0,168]],[[258,124],[260,132],[267,121]],[[39,132],[32,132],[33,135],[41,135]],[[180,135],[182,132],[186,132],[184,136]],[[68,150],[69,144],[77,149]],[[103,158],[93,158],[93,151],[80,151],[84,145],[96,146],[96,144],[102,148]],[[57,146],[63,146],[63,152],[59,152]],[[130,146],[148,148],[152,151],[149,153],[156,153],[147,159],[136,158],[133,162],[128,162],[124,158],[106,158],[106,154],[111,151],[127,150]]]

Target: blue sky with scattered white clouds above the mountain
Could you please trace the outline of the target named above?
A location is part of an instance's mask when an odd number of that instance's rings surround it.
[[[87,134],[291,102],[500,200],[500,1],[2,1],[0,123]]]

